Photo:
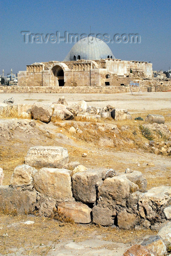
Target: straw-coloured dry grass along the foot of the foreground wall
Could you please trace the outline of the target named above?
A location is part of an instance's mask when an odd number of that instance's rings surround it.
[[[35,223],[25,225],[24,222],[28,219]],[[3,230],[0,230],[0,253],[2,254],[14,253],[10,248],[15,251],[24,248],[26,255],[29,255],[30,251],[32,255],[47,255],[46,253],[55,248],[59,240],[81,242],[100,235],[106,241],[137,243],[144,236],[156,234],[152,230],[119,230],[93,224],[65,223],[36,216],[12,217],[0,214],[0,222],[3,223]],[[4,233],[8,233],[8,237],[3,237]]]

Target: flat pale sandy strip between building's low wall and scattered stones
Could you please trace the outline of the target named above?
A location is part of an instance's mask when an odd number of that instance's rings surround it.
[[[14,97],[15,104],[25,103],[33,104],[34,102],[50,103],[58,101],[59,97],[64,96],[68,103],[85,100],[87,105],[99,106],[101,108],[110,104],[116,108],[128,109],[130,112],[143,112],[150,110],[170,109],[171,92],[147,93],[115,93],[115,94],[54,94],[54,93],[16,93],[0,94],[0,102],[4,99]]]

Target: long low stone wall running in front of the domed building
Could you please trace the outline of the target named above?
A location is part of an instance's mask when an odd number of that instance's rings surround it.
[[[133,87],[132,91],[137,92],[138,87]],[[141,91],[148,91],[148,87],[141,87]],[[0,93],[127,93],[129,86],[0,86]]]

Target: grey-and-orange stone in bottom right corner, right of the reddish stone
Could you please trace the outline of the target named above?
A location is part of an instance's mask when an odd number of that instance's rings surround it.
[[[141,245],[157,256],[163,256],[167,252],[166,245],[159,236],[150,236],[144,239]]]

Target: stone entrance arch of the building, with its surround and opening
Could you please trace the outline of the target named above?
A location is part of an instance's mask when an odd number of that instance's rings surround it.
[[[65,85],[65,72],[68,66],[61,62],[53,63],[49,69],[50,86],[64,86]]]

